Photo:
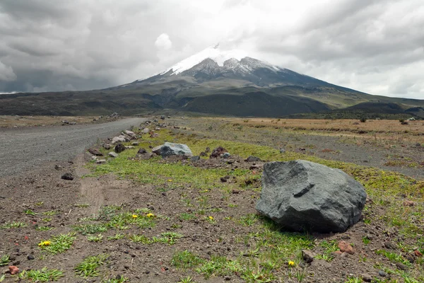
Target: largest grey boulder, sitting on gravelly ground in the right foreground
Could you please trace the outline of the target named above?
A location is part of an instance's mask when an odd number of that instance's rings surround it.
[[[257,211],[294,231],[343,232],[357,223],[367,194],[341,170],[310,161],[264,164]]]

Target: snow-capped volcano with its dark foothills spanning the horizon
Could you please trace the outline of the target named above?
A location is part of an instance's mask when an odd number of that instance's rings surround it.
[[[380,107],[381,103],[391,106]],[[134,115],[171,109],[253,117],[340,110],[423,117],[423,107],[424,100],[371,96],[245,57],[237,50],[223,52],[218,46],[122,86],[0,96],[0,115]]]

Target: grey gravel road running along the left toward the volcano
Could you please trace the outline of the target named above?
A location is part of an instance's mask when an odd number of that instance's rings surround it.
[[[129,118],[95,125],[0,129],[0,178],[29,171],[47,161],[66,161],[98,138],[118,134],[145,119]]]

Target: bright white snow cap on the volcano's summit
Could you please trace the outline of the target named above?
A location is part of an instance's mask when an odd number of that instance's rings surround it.
[[[215,46],[208,47],[205,50],[202,50],[201,52],[188,57],[187,59],[182,60],[181,62],[164,71],[162,74],[165,74],[170,70],[172,70],[172,75],[182,73],[183,71],[192,69],[192,67],[196,66],[196,64],[199,64],[207,58],[212,59],[218,64],[218,66],[223,67],[224,62],[228,59],[234,58],[240,61],[246,56],[247,53],[243,50],[222,51],[219,49],[219,44],[217,44]]]

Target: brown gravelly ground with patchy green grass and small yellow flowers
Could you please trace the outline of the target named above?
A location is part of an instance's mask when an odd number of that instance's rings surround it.
[[[59,282],[423,282],[424,181],[413,170],[396,172],[422,166],[402,160],[420,155],[419,136],[394,133],[394,127],[359,134],[349,124],[354,121],[341,124],[345,131],[318,122],[165,120],[157,136],[134,128],[139,145],[107,163],[95,164],[86,154],[73,164],[2,178],[1,265],[26,270],[5,275],[5,282],[18,276],[35,281],[38,274]],[[384,122],[360,127],[387,129]],[[136,156],[139,148],[149,151],[164,141],[187,144],[196,155],[223,146],[232,156],[194,162]],[[370,160],[393,161],[386,142],[405,154],[398,158],[405,163],[353,161],[392,171],[346,162],[356,147],[373,152]],[[250,155],[341,168],[367,190],[363,219],[345,233],[317,234],[284,231],[257,216],[263,162],[246,162]],[[76,178],[61,180],[64,172]],[[352,254],[341,252],[341,241]],[[302,250],[314,253],[310,264]]]

